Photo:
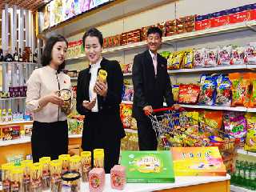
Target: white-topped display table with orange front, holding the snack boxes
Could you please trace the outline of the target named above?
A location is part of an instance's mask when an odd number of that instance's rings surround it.
[[[226,177],[176,177],[175,183],[128,183],[124,190],[112,190],[110,174],[106,174],[104,192],[229,192],[230,175]],[[50,192],[50,190],[48,190]],[[88,182],[82,183],[81,191],[89,191]]]

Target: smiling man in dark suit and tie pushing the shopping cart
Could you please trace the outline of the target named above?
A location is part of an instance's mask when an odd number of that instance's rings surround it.
[[[134,84],[133,117],[137,120],[138,145],[140,150],[157,150],[158,141],[150,118],[145,115],[153,109],[174,105],[167,61],[157,53],[162,44],[162,30],[150,27],[147,31],[149,50],[134,57],[132,78]],[[178,106],[177,106],[178,107]]]

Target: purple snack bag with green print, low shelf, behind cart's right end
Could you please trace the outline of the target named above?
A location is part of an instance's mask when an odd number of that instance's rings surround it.
[[[243,146],[247,129],[245,114],[242,112],[226,111],[223,114],[223,124],[226,133],[234,138],[240,138],[240,146]]]

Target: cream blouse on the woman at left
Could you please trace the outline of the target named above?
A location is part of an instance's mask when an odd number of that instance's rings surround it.
[[[58,82],[60,89],[58,89]],[[70,77],[57,71],[50,66],[43,66],[34,70],[27,82],[26,110],[34,114],[34,121],[57,122],[65,121],[64,114],[58,105],[48,103],[40,108],[39,99],[62,89],[71,90]],[[59,110],[59,111],[58,111]]]

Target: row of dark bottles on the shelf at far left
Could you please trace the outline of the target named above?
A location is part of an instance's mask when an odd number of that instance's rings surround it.
[[[17,50],[15,47],[14,54],[10,54],[10,50],[6,50],[6,54],[3,55],[2,49],[0,49],[0,62],[38,62],[38,50],[34,50],[34,54],[32,53],[32,49],[29,46],[26,46],[22,51],[21,48]]]

